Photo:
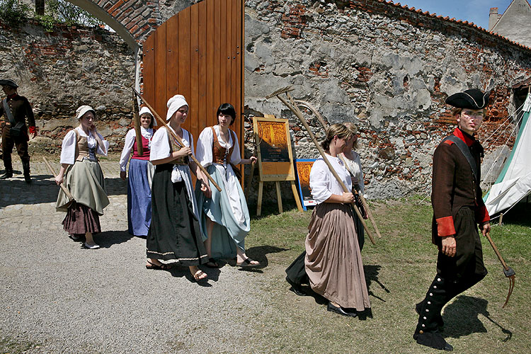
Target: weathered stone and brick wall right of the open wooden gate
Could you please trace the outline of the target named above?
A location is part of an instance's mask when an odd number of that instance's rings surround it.
[[[290,118],[297,158],[317,155],[295,117],[265,96],[293,85],[329,122],[360,128],[370,198],[427,193],[431,159],[455,127],[452,93],[491,91],[488,152],[504,144],[511,84],[531,75],[531,51],[485,30],[384,1],[246,1],[246,114]],[[317,136],[323,136],[314,120]],[[490,143],[493,143],[490,146]],[[498,151],[498,150],[496,150]]]

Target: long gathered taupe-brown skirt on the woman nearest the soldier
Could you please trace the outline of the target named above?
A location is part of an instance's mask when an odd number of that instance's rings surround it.
[[[370,308],[360,246],[349,205],[321,203],[312,213],[304,264],[314,292],[341,307]]]

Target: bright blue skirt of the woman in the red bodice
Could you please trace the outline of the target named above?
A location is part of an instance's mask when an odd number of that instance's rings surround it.
[[[152,190],[149,188],[147,160],[131,159],[127,183],[127,227],[130,234],[147,236],[152,222]]]

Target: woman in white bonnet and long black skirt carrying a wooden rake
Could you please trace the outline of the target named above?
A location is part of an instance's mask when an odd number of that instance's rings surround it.
[[[205,280],[207,274],[198,265],[207,263],[208,257],[202,242],[198,222],[198,205],[192,186],[190,170],[202,181],[201,190],[210,198],[207,177],[194,161],[193,137],[181,127],[188,117],[188,103],[184,96],[176,95],[168,101],[166,122],[152,139],[150,161],[155,165],[152,184],[152,223],[147,235],[148,269],[169,270],[171,265],[160,260],[176,260],[187,265],[194,280]],[[180,147],[167,129],[181,137]]]

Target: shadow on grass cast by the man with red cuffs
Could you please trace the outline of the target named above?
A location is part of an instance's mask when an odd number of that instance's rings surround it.
[[[450,324],[450,326],[445,326],[445,336],[459,338],[472,333],[486,333],[485,326],[479,320],[479,315],[481,314],[506,335],[506,338],[502,340],[503,342],[509,341],[513,337],[513,332],[503,328],[501,324],[491,319],[491,314],[487,311],[487,304],[489,302],[486,299],[480,299],[479,297],[464,295],[457,297],[454,302],[445,307],[442,315],[445,323]]]

